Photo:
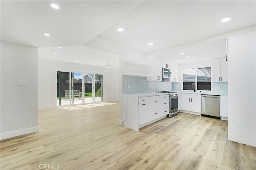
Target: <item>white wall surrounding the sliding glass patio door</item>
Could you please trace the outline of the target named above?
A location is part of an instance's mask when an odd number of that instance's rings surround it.
[[[119,100],[118,69],[38,59],[38,109],[56,107],[56,71],[103,74],[103,101]]]

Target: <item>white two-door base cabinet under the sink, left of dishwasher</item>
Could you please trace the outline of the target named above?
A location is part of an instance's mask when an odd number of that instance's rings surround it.
[[[201,95],[182,94],[182,110],[201,113]]]

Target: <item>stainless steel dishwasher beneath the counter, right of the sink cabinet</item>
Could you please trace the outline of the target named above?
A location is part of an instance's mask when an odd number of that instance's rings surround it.
[[[220,96],[201,95],[201,115],[220,119]]]

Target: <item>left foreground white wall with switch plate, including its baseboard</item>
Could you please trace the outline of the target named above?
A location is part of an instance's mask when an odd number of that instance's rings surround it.
[[[37,76],[36,47],[1,41],[1,139],[39,130]]]

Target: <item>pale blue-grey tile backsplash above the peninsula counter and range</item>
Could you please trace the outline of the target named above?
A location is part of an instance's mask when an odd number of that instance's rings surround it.
[[[130,89],[128,89],[128,85]],[[158,91],[172,91],[171,82],[147,81],[146,77],[123,75],[122,94],[151,93]]]

